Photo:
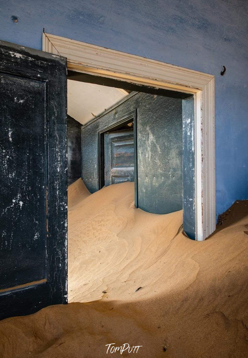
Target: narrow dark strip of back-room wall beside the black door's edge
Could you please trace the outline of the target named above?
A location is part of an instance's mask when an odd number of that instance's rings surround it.
[[[67,184],[81,176],[81,123],[67,115]]]

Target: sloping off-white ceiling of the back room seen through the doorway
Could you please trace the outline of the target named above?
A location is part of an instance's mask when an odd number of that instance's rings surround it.
[[[67,113],[81,124],[128,95],[124,89],[67,80]]]

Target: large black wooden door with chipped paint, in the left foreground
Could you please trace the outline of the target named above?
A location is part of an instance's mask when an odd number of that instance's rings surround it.
[[[66,59],[0,42],[0,318],[67,303]]]

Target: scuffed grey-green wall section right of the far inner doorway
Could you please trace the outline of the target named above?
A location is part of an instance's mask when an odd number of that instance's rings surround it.
[[[137,118],[138,207],[167,214],[182,209],[182,101],[144,98]]]

